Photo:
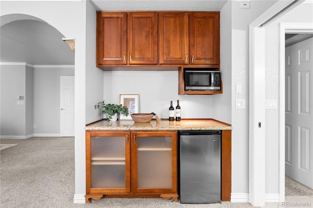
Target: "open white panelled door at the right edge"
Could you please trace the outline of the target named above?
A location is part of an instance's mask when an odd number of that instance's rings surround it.
[[[285,171],[313,188],[313,38],[285,52]]]

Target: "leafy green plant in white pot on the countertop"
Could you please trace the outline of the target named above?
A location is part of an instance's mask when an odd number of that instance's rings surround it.
[[[116,121],[118,113],[122,113],[125,116],[128,116],[128,108],[123,106],[122,104],[105,104],[103,101],[94,105],[94,108],[103,108],[101,113],[107,114],[108,121]]]

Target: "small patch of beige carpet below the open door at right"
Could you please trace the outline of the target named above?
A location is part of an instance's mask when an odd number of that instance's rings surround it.
[[[313,196],[313,189],[285,176],[285,196]]]

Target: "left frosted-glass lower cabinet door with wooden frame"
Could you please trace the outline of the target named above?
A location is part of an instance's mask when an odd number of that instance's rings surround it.
[[[128,140],[128,132],[90,135],[90,189],[130,191]]]

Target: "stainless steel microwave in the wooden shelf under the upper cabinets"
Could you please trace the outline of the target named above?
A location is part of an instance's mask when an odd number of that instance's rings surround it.
[[[185,70],[185,90],[221,90],[221,72],[206,70]]]

